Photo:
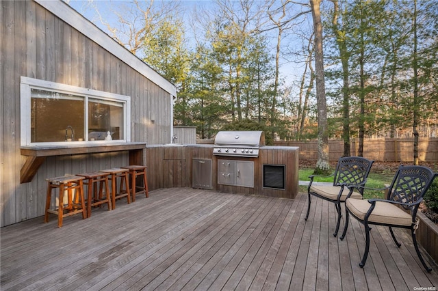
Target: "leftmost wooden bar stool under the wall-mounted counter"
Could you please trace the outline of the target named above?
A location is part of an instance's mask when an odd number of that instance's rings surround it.
[[[62,227],[62,219],[73,214],[82,212],[82,219],[87,218],[87,210],[83,199],[83,177],[70,175],[55,178],[47,178],[47,197],[46,211],[44,212],[44,223],[49,222],[49,213],[57,214],[57,227]],[[58,208],[50,209],[52,189],[58,191]],[[73,201],[72,190],[75,191],[75,201]],[[64,191],[67,191],[67,204],[64,206]],[[80,200],[80,201],[79,201]],[[65,213],[64,213],[65,212]]]

